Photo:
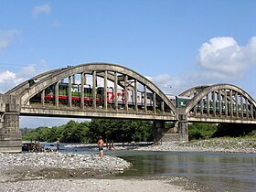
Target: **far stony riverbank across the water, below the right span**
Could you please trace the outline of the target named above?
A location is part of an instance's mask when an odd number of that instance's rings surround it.
[[[96,144],[67,144],[67,148],[97,148]],[[173,142],[153,143],[115,143],[112,150],[141,150],[168,152],[211,152],[211,153],[244,153],[256,154],[256,138],[212,138],[191,141],[184,144]]]

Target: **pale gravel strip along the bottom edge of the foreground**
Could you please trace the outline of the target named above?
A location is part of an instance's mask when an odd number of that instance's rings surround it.
[[[135,179],[45,179],[34,181],[18,181],[16,183],[0,183],[1,191],[18,192],[84,192],[84,191],[123,191],[123,192],[182,192],[183,187],[176,187],[165,180]]]

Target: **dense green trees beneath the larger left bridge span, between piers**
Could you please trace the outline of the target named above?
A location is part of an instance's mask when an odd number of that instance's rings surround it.
[[[70,121],[59,127],[38,127],[23,135],[24,140],[46,142],[80,143],[97,142],[98,137],[115,142],[140,142],[153,140],[151,122],[131,120],[93,119],[91,122],[77,123]]]

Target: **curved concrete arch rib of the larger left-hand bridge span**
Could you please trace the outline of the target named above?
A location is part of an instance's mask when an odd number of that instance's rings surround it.
[[[46,88],[48,88],[48,86],[55,84],[55,83],[59,82],[60,80],[68,78],[72,75],[81,74],[83,72],[86,74],[92,74],[93,71],[96,71],[97,76],[100,76],[100,77],[102,77],[101,76],[102,72],[104,73],[104,71],[107,71],[107,72],[117,72],[119,74],[123,74],[124,76],[128,76],[128,78],[130,78],[130,79],[137,80],[142,85],[145,85],[149,91],[155,92],[155,94],[162,101],[165,102],[165,105],[170,109],[170,111],[173,112],[174,114],[176,114],[175,106],[171,103],[171,101],[168,100],[168,98],[165,96],[165,94],[159,88],[157,88],[155,86],[155,84],[153,82],[151,82],[150,80],[147,80],[146,78],[144,78],[144,76],[133,71],[132,69],[128,69],[123,66],[116,65],[116,64],[110,64],[110,63],[88,63],[88,64],[81,64],[78,66],[69,67],[69,68],[65,68],[65,69],[52,70],[49,72],[49,74],[44,73],[35,78],[32,78],[31,80],[36,79],[36,78],[38,80],[34,85],[32,85],[30,87],[27,87],[28,84],[26,84],[26,86],[25,85],[17,86],[17,88],[14,89],[13,91],[9,91],[9,94],[15,94],[18,90],[19,97],[20,97],[20,103],[21,103],[21,107],[22,107],[27,104],[29,99],[31,99],[33,96],[35,96],[40,91],[43,91]],[[38,77],[40,77],[40,79]],[[108,73],[108,80],[113,80],[112,73]],[[122,84],[121,84],[121,86],[122,86]],[[21,91],[22,88],[26,88],[26,89],[23,89],[23,91]]]

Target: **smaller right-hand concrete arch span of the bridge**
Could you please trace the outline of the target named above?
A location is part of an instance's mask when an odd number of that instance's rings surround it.
[[[199,86],[179,96],[187,99],[179,113],[186,115],[188,122],[256,123],[256,102],[235,85]]]

